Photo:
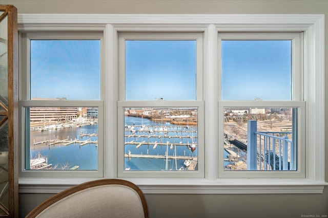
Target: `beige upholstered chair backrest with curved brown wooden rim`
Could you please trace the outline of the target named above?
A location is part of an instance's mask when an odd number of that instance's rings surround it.
[[[148,217],[148,207],[144,193],[135,184],[103,179],[61,191],[26,217]]]

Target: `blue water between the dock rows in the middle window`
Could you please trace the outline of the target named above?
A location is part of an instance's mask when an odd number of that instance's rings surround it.
[[[141,124],[145,126],[156,126],[157,129],[160,127],[167,127],[168,130],[175,130],[175,132],[168,132],[167,136],[165,136],[164,132],[154,132],[153,134],[146,133],[146,137],[140,137],[138,138],[139,135],[144,135],[144,133],[138,132],[138,130],[141,127]],[[197,144],[197,138],[194,138],[193,140],[191,138],[171,138],[169,139],[170,136],[189,136],[189,137],[196,137],[197,136],[197,126],[189,126],[189,131],[192,129],[194,130],[193,133],[186,132],[186,125],[173,125],[168,122],[155,122],[151,121],[148,119],[142,119],[140,117],[125,117],[125,125],[129,126],[135,126],[136,133],[135,136],[133,137],[125,137],[125,142],[144,142],[139,148],[136,148],[136,145],[125,145],[124,147],[124,152],[125,154],[128,154],[129,150],[131,154],[133,155],[165,155],[165,152],[168,151],[168,155],[174,156],[175,155],[175,150],[176,150],[176,155],[177,156],[187,156],[187,157],[196,157],[197,156],[197,146],[196,150],[192,152],[187,146],[176,146],[176,148],[170,149],[170,144],[171,143],[189,143],[192,144],[192,142],[195,142]],[[150,129],[149,129],[150,130]],[[130,131],[126,131],[125,135],[128,135]],[[151,137],[148,138],[149,135],[156,135],[157,137]],[[160,138],[158,138],[160,136]],[[153,149],[153,145],[149,145],[148,143],[154,143],[157,141],[158,143],[167,143],[169,142],[169,146],[167,145],[157,145],[155,149]],[[125,158],[125,168],[130,168],[130,170],[165,170],[166,167],[168,170],[176,170],[179,169],[183,166],[185,160],[176,160],[175,159],[169,159],[168,161],[166,159],[153,159],[153,158]],[[196,167],[197,170],[197,167]]]

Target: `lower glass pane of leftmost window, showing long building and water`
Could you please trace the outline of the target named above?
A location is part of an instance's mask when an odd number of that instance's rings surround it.
[[[97,107],[30,107],[27,169],[96,170]]]

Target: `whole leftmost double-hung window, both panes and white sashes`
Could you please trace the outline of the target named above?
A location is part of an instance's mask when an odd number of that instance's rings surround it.
[[[25,81],[30,81],[20,96],[22,171],[36,177],[103,175],[101,35],[28,33],[22,38],[29,51]]]

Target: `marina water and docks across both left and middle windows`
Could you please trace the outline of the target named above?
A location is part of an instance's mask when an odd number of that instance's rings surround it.
[[[125,124],[125,169],[197,170],[197,126],[129,116],[125,117]],[[48,130],[31,129],[31,160],[41,154],[48,165],[58,165],[57,169],[97,169],[97,123],[45,129]],[[191,162],[188,167],[186,160]]]

